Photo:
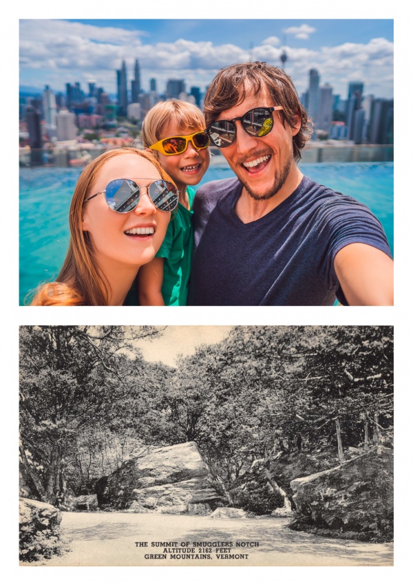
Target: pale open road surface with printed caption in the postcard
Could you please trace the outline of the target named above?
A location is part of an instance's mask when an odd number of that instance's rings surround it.
[[[70,551],[39,565],[392,565],[392,543],[327,539],[293,532],[286,528],[287,523],[287,519],[270,518],[63,513],[62,532],[70,539]],[[172,542],[167,552],[158,545],[165,542]],[[194,548],[194,542],[206,542],[207,550]],[[222,549],[209,547],[207,542],[220,543]],[[237,542],[253,545],[236,547]],[[152,557],[145,558],[148,554]],[[177,554],[193,558],[172,557]]]

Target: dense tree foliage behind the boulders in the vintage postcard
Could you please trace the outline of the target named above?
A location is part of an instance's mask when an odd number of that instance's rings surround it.
[[[145,362],[149,327],[21,327],[21,466],[56,503],[151,446],[197,442],[236,484],[257,458],[392,439],[391,327],[240,326],[176,369]]]

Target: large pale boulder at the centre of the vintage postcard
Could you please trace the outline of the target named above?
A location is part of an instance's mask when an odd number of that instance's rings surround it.
[[[125,462],[96,484],[99,506],[140,513],[196,513],[221,496],[195,442],[164,446]],[[203,510],[204,511],[204,510]]]

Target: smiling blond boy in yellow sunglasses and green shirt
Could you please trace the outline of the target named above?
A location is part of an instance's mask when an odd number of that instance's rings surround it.
[[[209,138],[202,111],[192,103],[171,100],[149,110],[142,142],[156,153],[179,191],[176,214],[155,259],[138,273],[140,305],[187,305],[193,247],[192,203],[195,186],[209,166]]]

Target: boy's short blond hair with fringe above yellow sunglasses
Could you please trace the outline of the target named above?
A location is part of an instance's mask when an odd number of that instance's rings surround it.
[[[205,118],[202,111],[193,103],[171,99],[159,101],[145,116],[142,124],[142,144],[149,147],[160,140],[162,130],[175,122],[178,129],[193,129],[204,131]],[[172,137],[172,136],[171,136]],[[157,153],[157,152],[155,152]]]

